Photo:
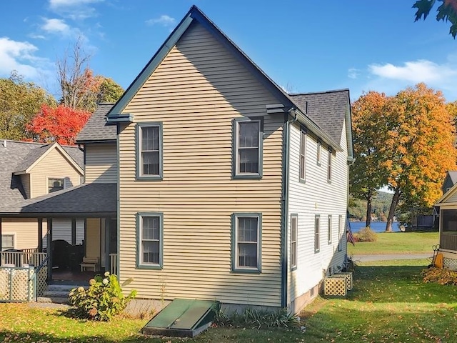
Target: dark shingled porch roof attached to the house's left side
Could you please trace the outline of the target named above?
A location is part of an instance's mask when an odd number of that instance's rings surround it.
[[[116,184],[81,184],[0,209],[0,217],[104,217],[116,214]]]

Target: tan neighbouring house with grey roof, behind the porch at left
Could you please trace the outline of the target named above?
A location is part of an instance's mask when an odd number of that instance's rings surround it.
[[[0,141],[0,212],[11,204],[81,184],[83,154],[77,146]],[[41,234],[38,226],[41,223]],[[75,223],[76,241],[84,239],[84,222]],[[71,242],[71,220],[54,223],[54,238]],[[1,249],[46,247],[46,222],[37,218],[0,218]],[[41,239],[39,238],[41,236]]]

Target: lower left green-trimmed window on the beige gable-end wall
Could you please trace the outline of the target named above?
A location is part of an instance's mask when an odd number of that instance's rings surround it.
[[[163,219],[162,213],[144,212],[137,215],[137,267],[151,269],[163,267]]]

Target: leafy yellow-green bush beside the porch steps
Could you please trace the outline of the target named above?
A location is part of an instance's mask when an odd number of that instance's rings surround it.
[[[121,313],[135,296],[134,290],[128,297],[124,297],[116,275],[106,272],[104,277],[96,275],[90,279],[89,289],[71,289],[69,299],[74,307],[71,314],[81,319],[109,321]]]

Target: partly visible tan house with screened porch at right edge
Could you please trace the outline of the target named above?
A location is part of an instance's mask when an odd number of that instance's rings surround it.
[[[439,214],[440,252],[443,265],[457,269],[457,172],[448,172],[443,182],[443,196],[438,199],[435,209]]]

